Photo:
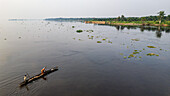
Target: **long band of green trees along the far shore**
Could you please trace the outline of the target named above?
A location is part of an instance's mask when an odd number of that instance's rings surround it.
[[[116,18],[48,18],[45,20],[55,20],[55,21],[170,21],[170,15],[165,16],[164,11],[157,13],[158,16],[145,16],[145,17],[125,17],[124,15],[118,16]]]

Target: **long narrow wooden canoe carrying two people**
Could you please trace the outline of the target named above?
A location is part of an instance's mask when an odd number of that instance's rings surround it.
[[[19,84],[19,86],[20,86],[20,87],[25,86],[25,85],[27,85],[27,84],[29,84],[29,83],[31,83],[31,82],[39,79],[39,78],[42,78],[42,77],[44,77],[44,76],[46,76],[46,75],[48,75],[48,74],[50,74],[50,73],[52,73],[52,72],[54,72],[54,71],[57,71],[57,70],[58,70],[58,67],[51,68],[51,69],[45,71],[44,74],[41,74],[41,73],[40,73],[40,74],[38,74],[38,75],[35,75],[35,76],[29,78],[29,79],[26,80],[26,81],[21,82],[21,83]]]

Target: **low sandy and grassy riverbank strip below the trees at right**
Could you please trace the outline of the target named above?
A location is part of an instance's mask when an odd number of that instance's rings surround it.
[[[136,25],[136,26],[165,26],[168,27],[168,24],[151,24],[151,23],[120,23],[120,22],[110,22],[110,21],[85,21],[85,23],[91,24],[103,24],[103,25]]]

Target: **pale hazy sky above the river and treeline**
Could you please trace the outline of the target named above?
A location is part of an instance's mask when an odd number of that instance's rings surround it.
[[[0,18],[117,17],[170,14],[170,0],[0,0]]]

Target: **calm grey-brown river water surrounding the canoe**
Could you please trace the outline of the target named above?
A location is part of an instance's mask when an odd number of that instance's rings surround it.
[[[1,21],[0,96],[169,96],[169,31],[143,29]],[[134,50],[139,53],[128,58]],[[59,70],[18,87],[26,72],[33,76],[44,66]]]

